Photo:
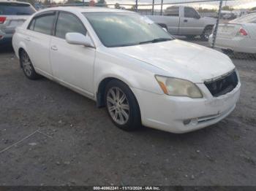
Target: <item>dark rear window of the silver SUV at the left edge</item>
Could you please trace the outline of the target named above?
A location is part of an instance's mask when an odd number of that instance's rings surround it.
[[[0,2],[0,15],[32,15],[34,12],[30,4]]]

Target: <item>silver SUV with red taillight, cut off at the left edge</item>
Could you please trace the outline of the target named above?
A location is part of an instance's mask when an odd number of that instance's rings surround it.
[[[24,23],[36,10],[29,3],[0,0],[0,46],[11,44],[15,28]]]

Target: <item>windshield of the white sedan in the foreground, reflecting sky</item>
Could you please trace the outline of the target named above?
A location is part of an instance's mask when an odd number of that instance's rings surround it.
[[[84,13],[105,47],[124,47],[172,40],[148,17],[133,13]]]

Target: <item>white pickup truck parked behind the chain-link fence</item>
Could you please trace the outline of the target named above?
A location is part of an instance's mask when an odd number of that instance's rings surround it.
[[[212,33],[217,20],[211,17],[201,17],[192,7],[167,7],[163,16],[147,15],[148,18],[165,28],[170,34],[194,38],[200,35],[207,40]]]

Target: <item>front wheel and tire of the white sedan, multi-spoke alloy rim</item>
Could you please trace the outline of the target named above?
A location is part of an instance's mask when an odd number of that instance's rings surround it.
[[[105,105],[112,122],[122,130],[141,127],[140,107],[132,90],[119,80],[108,82],[105,90]]]

